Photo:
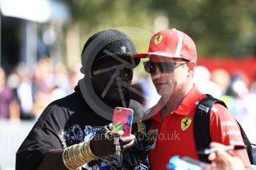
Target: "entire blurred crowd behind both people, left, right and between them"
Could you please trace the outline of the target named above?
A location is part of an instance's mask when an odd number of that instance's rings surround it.
[[[40,59],[35,66],[20,63],[6,75],[0,67],[0,119],[34,120],[51,101],[73,92],[82,78],[80,66],[67,69],[65,64],[53,64],[50,58]],[[134,76],[136,77],[136,76]],[[146,108],[157,102],[154,88],[149,88],[150,78],[135,78],[131,98],[140,101]],[[243,72],[232,75],[225,69],[196,67],[194,82],[203,93],[225,101],[249,139],[256,142],[256,76],[249,80]],[[148,89],[149,88],[149,89]],[[143,95],[144,94],[144,95]],[[154,96],[154,97],[153,97]]]

